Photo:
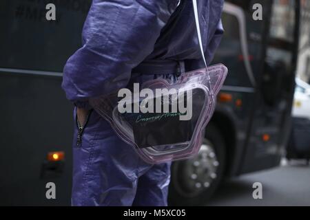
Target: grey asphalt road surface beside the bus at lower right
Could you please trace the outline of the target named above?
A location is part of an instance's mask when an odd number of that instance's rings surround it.
[[[254,199],[253,184],[262,184],[262,199]],[[310,166],[282,161],[282,166],[223,183],[207,206],[310,206]]]

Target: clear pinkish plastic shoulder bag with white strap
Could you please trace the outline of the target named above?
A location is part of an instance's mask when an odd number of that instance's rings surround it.
[[[193,0],[200,50],[197,5]],[[149,80],[117,94],[91,98],[90,104],[145,162],[155,164],[196,155],[215,96],[227,76],[222,64],[182,74],[176,82]]]

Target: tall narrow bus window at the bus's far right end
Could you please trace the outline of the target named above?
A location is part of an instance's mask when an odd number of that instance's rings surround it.
[[[268,104],[276,104],[291,91],[296,25],[294,0],[273,1],[269,40],[262,77],[262,92]]]

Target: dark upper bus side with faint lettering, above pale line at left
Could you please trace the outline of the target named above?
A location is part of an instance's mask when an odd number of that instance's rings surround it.
[[[56,5],[56,21],[45,19],[45,5]],[[90,0],[0,1],[0,68],[62,72],[81,46]]]

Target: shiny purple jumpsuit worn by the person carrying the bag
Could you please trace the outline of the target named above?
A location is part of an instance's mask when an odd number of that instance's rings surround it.
[[[208,63],[223,35],[222,10],[223,0],[198,0]],[[130,82],[176,80],[204,66],[191,0],[93,0],[83,47],[66,63],[62,87],[77,107],[90,109],[90,97]],[[75,126],[73,206],[167,206],[170,163],[143,162],[95,111],[79,137],[78,130]]]

